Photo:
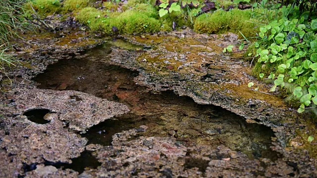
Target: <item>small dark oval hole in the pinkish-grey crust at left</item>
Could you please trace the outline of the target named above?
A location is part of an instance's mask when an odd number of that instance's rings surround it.
[[[50,113],[51,110],[49,109],[31,109],[24,112],[24,116],[28,118],[28,120],[38,123],[38,124],[47,124],[50,121],[45,120],[44,116],[48,113]]]

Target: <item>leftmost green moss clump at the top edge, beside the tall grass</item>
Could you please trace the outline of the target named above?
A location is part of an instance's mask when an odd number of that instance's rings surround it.
[[[59,0],[32,0],[24,4],[26,11],[33,13],[32,7],[36,10],[41,16],[51,15],[54,12],[59,12],[60,2]]]

